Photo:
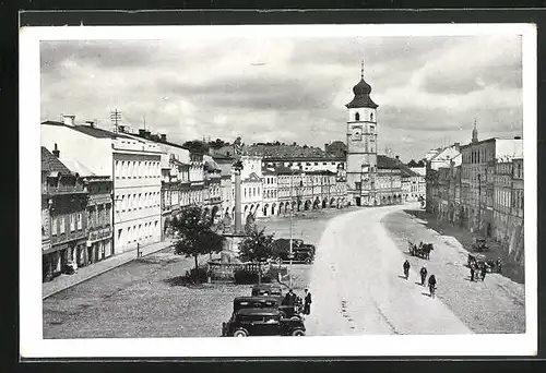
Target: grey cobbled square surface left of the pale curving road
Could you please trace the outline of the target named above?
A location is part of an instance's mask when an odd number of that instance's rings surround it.
[[[294,237],[316,243],[332,216],[347,209],[295,217]],[[275,238],[289,237],[289,219],[259,220]],[[201,263],[209,256],[203,256]],[[176,285],[193,266],[171,249],[134,260],[44,300],[44,338],[218,337],[235,297],[250,286]],[[311,266],[294,265],[294,289],[302,294]]]

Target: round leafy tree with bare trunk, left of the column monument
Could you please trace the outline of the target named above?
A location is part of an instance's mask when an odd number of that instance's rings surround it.
[[[199,281],[199,255],[218,253],[223,249],[224,237],[213,230],[211,213],[198,205],[182,208],[179,219],[173,219],[173,229],[178,237],[175,243],[177,254],[193,256],[195,261],[195,282]]]

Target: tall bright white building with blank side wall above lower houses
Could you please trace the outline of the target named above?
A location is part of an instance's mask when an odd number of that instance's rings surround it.
[[[93,122],[41,123],[41,144],[114,181],[114,253],[161,240],[162,151],[157,144],[96,128]]]

